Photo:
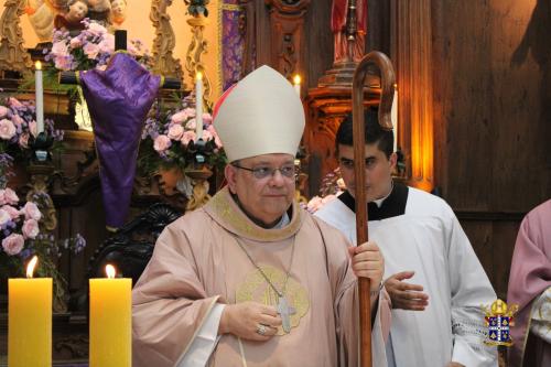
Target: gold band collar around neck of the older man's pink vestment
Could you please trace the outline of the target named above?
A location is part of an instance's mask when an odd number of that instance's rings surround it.
[[[293,202],[293,217],[291,223],[281,229],[266,229],[255,225],[242,213],[231,198],[227,187],[220,190],[207,203],[207,212],[212,211],[220,217],[222,225],[228,224],[238,235],[247,236],[256,240],[281,240],[294,235],[301,226],[300,208]]]

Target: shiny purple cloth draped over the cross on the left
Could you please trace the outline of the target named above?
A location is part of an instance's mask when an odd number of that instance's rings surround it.
[[[125,224],[141,131],[160,79],[126,53],[115,54],[106,71],[80,73],[94,127],[108,227]]]

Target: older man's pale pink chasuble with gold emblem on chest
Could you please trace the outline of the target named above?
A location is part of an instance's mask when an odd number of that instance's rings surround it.
[[[224,188],[205,207],[169,225],[133,290],[132,366],[179,366],[217,304],[256,301],[277,306],[277,293],[241,244],[279,290],[294,246],[282,291],[291,310],[290,332],[280,328],[268,342],[225,334],[207,365],[356,367],[357,279],[348,242],[296,203],[289,215],[287,226],[261,228]],[[383,299],[372,332],[374,356],[382,358],[378,360],[385,360],[382,330],[388,332],[389,313]]]

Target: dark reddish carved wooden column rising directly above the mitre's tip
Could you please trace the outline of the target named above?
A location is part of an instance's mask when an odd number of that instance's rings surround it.
[[[304,75],[304,18],[311,0],[264,0],[270,10],[270,65],[291,78]]]

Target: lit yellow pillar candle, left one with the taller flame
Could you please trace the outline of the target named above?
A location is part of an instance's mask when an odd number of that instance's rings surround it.
[[[52,278],[8,280],[8,366],[52,366]]]

